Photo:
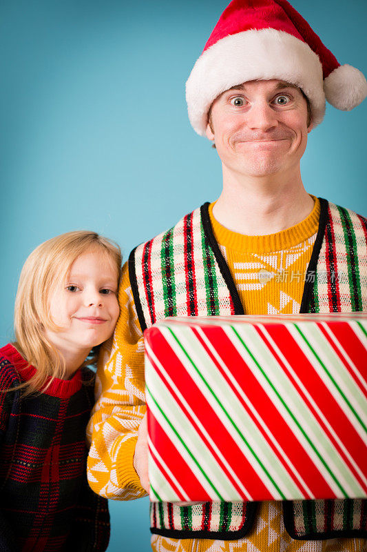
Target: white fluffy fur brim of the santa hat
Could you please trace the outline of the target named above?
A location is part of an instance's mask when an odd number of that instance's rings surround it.
[[[205,135],[211,103],[225,90],[253,80],[280,79],[299,86],[311,103],[313,125],[325,113],[322,65],[311,48],[275,29],[231,34],[205,50],[186,83],[189,119]]]

